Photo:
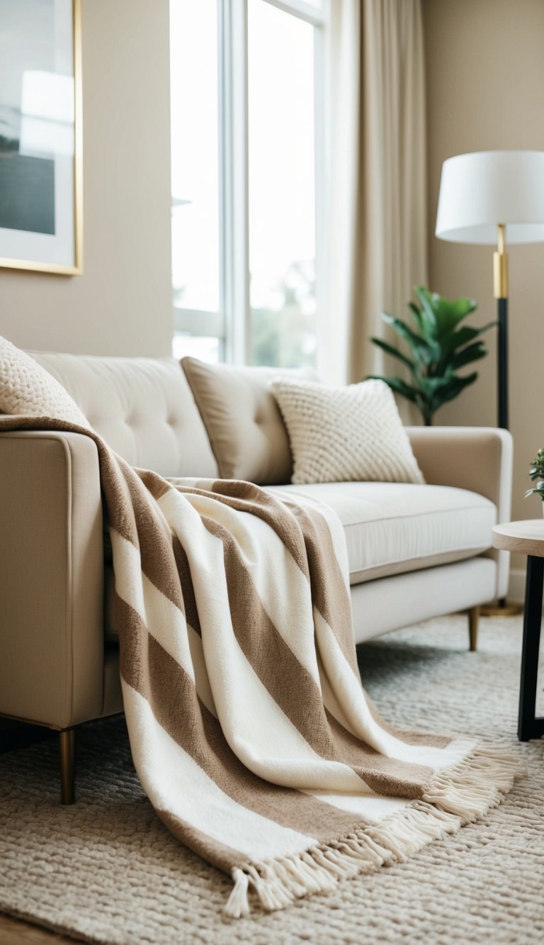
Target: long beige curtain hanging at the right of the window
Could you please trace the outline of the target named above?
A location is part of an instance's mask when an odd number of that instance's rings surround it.
[[[382,364],[380,313],[427,283],[421,0],[331,2],[331,282],[321,368],[338,383]]]

